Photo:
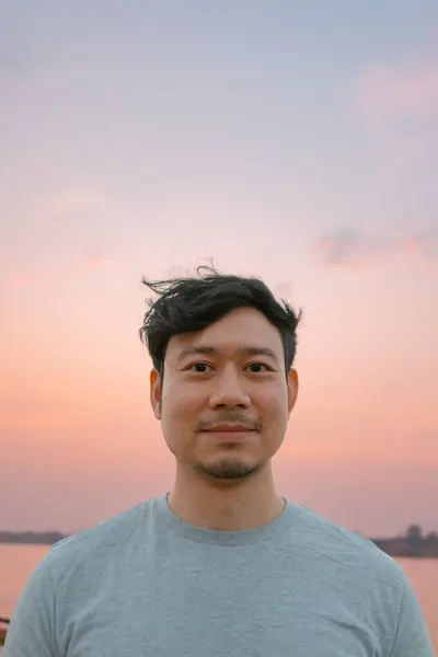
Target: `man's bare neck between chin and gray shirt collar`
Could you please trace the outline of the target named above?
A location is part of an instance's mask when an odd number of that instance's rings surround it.
[[[275,489],[270,465],[239,483],[203,480],[177,466],[169,506],[183,520],[217,531],[245,531],[279,516],[285,500]]]

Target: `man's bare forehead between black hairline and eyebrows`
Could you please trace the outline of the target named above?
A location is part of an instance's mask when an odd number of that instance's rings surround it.
[[[175,335],[168,345],[166,358],[177,358],[187,347],[211,347],[219,354],[231,354],[247,347],[266,348],[283,358],[278,330],[254,308],[238,308],[203,331]]]

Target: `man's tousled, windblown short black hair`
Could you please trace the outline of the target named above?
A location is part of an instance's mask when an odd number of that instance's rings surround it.
[[[214,267],[197,268],[197,277],[151,281],[142,279],[158,298],[147,300],[140,338],[154,369],[163,376],[164,358],[173,335],[206,328],[238,308],[255,308],[278,330],[288,373],[297,351],[296,313],[287,301],[277,301],[260,278],[220,274]]]

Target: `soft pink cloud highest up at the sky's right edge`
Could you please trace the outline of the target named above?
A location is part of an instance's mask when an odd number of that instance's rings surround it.
[[[433,118],[438,112],[438,64],[408,70],[370,67],[359,78],[356,103],[366,120]]]

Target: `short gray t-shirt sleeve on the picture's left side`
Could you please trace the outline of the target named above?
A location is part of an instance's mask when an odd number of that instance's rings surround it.
[[[56,649],[55,587],[44,560],[19,599],[4,644],[4,657],[61,657]]]

